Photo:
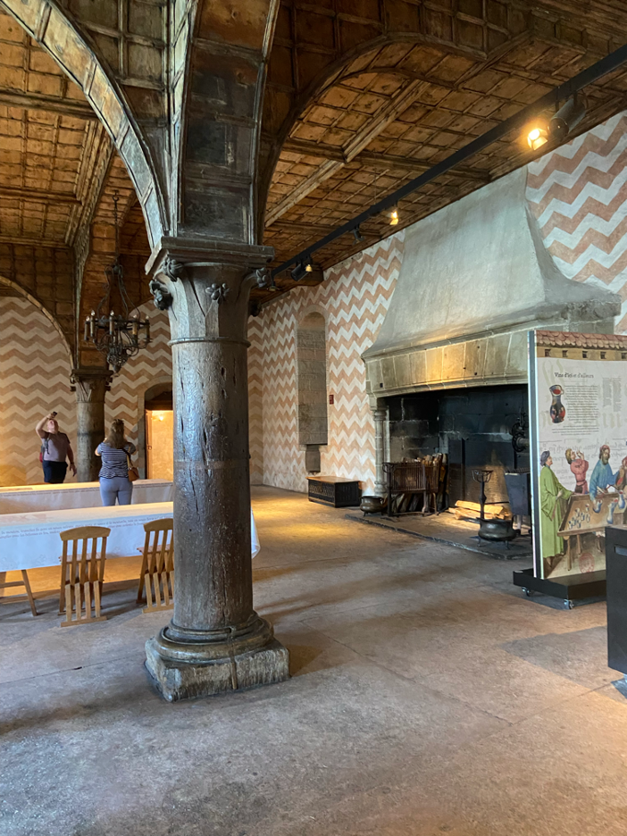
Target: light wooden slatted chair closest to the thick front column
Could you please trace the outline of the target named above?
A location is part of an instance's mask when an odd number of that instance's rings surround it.
[[[144,523],[146,540],[144,559],[139,574],[138,604],[144,599],[143,613],[171,609],[174,606],[174,523],[171,519],[153,520]]]

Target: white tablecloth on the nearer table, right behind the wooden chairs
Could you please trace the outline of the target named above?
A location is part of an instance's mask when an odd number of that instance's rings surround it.
[[[111,529],[107,557],[137,555],[146,537],[144,523],[171,515],[171,502],[4,514],[0,517],[0,572],[58,566],[63,551],[59,532],[79,525],[104,525]],[[250,524],[254,557],[259,551],[259,539],[252,511]]]

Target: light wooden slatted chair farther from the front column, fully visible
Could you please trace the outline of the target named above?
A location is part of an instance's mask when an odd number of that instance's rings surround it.
[[[61,560],[61,589],[59,613],[65,611],[62,627],[105,621],[100,614],[103,592],[106,539],[111,529],[96,525],[61,531],[63,556]],[[98,551],[98,539],[101,539]]]

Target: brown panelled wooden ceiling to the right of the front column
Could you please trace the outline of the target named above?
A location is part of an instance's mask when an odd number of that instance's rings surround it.
[[[267,93],[269,102],[289,103],[283,121],[268,120],[282,138],[265,213],[264,242],[276,263],[626,40],[618,0],[328,0],[315,8],[283,0]],[[338,67],[339,54],[347,60]],[[311,88],[311,69],[321,66],[328,77]],[[627,74],[614,73],[586,96],[577,133],[627,106]],[[405,198],[396,230],[532,157],[518,132],[502,138]],[[314,259],[328,267],[395,229],[380,215],[360,231],[361,244],[345,236]]]

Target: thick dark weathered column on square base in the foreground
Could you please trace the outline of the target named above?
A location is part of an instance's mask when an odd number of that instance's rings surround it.
[[[250,553],[247,310],[267,254],[167,247],[151,282],[170,309],[175,595],[146,667],[168,700],[289,675],[288,651],[253,609]]]

